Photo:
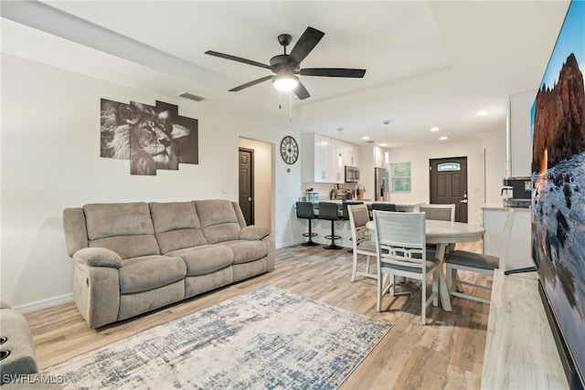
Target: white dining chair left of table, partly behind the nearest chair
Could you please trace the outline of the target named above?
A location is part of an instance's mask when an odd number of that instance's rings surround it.
[[[366,278],[378,278],[377,273],[370,273],[370,258],[378,258],[376,251],[376,242],[370,238],[369,229],[366,227],[369,221],[369,213],[367,206],[361,205],[347,205],[347,214],[349,216],[349,224],[351,226],[351,239],[353,245],[353,268],[351,272],[351,281],[356,281],[356,276],[363,276]],[[357,271],[357,256],[366,256],[366,272]]]

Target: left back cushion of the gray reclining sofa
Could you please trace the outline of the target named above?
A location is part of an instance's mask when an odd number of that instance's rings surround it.
[[[112,249],[121,258],[160,254],[146,203],[90,204],[83,214],[90,248]]]

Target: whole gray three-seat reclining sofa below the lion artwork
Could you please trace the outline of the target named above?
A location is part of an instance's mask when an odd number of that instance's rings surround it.
[[[229,200],[66,208],[63,228],[90,328],[274,269],[271,230],[246,226]]]

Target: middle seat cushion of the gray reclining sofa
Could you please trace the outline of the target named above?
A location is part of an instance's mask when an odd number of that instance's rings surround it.
[[[218,245],[179,249],[168,254],[185,260],[186,276],[207,275],[218,269],[225,269],[234,259],[231,248]]]

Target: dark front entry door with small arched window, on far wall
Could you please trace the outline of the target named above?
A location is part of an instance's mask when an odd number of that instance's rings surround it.
[[[467,157],[431,159],[431,204],[455,204],[455,221],[467,222]]]

